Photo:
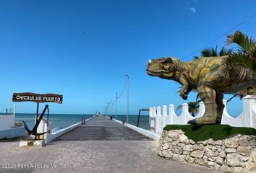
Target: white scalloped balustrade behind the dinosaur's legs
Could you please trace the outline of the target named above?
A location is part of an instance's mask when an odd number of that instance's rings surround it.
[[[225,108],[223,110],[221,124],[227,124],[234,127],[248,127],[256,129],[256,97],[246,96],[242,99],[243,112],[237,116],[232,117],[226,110],[226,100],[223,100]],[[167,113],[168,108],[168,113]],[[205,113],[205,105],[200,102],[199,112],[195,117],[189,114],[188,105],[182,105],[182,114],[176,115],[174,105],[163,105],[163,107],[150,107],[150,129],[152,132],[161,133],[163,128],[168,124],[185,125],[189,120],[196,117],[202,117]]]

